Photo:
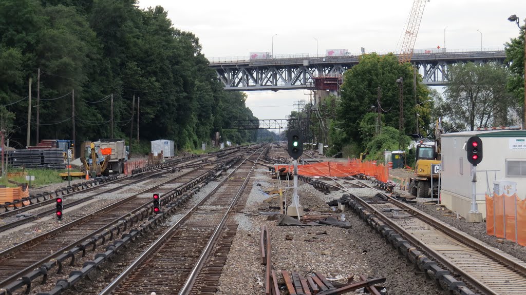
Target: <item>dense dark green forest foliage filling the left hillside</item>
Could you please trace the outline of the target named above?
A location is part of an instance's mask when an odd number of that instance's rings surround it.
[[[135,97],[136,111],[140,97],[141,140],[174,140],[181,150],[211,142],[216,132],[221,141],[257,139],[257,131],[223,132],[233,120],[255,118],[246,96],[222,90],[199,38],[173,27],[161,6],[139,9],[136,0],[0,2],[0,105],[22,99],[7,106],[19,127],[26,123],[29,78],[36,105],[38,68],[40,139],[70,138],[73,90],[78,142],[109,138],[109,94],[114,137],[128,138],[132,101]],[[31,131],[35,134],[36,124]],[[25,128],[15,129],[13,140],[25,145],[25,137]],[[146,143],[135,143],[132,150],[142,153]]]

